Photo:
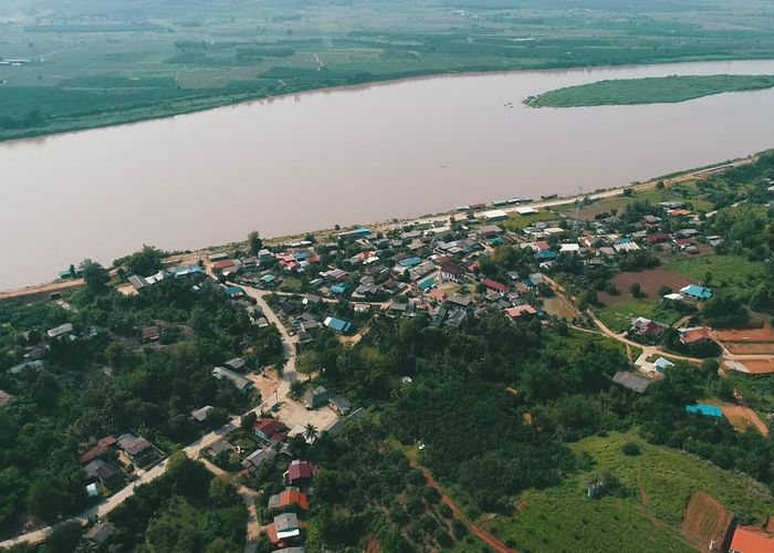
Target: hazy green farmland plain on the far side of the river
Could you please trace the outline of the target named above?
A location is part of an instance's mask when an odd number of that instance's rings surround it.
[[[416,75],[774,58],[765,0],[6,0],[0,139]]]

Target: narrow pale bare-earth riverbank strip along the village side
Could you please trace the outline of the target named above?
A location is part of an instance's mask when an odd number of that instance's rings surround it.
[[[520,208],[523,207],[530,207],[535,210],[540,209],[546,209],[546,208],[555,208],[555,207],[563,207],[563,206],[572,206],[575,205],[578,201],[597,201],[602,200],[605,198],[613,198],[616,196],[620,196],[625,194],[626,190],[632,190],[635,192],[637,191],[646,191],[649,189],[652,189],[653,187],[657,186],[659,181],[663,181],[667,184],[678,184],[678,182],[683,182],[683,181],[689,181],[689,180],[694,180],[697,178],[703,178],[707,177],[713,173],[718,173],[721,170],[726,170],[732,167],[738,167],[741,165],[747,165],[751,163],[754,163],[757,159],[757,156],[760,154],[751,155],[745,158],[741,159],[734,159],[731,161],[725,161],[722,164],[713,164],[709,166],[703,166],[699,168],[693,168],[689,169],[687,171],[678,173],[678,174],[670,174],[668,176],[661,176],[661,177],[655,177],[649,179],[646,182],[632,182],[629,185],[624,185],[624,186],[618,186],[609,189],[602,189],[602,190],[595,190],[589,194],[583,194],[583,195],[571,195],[571,196],[563,196],[563,197],[556,197],[556,198],[551,198],[551,199],[544,199],[540,201],[525,201],[525,202],[520,202],[519,205],[514,206],[505,206],[505,207],[496,207],[496,209],[512,215],[514,212],[517,212]],[[482,216],[487,210],[489,209],[495,209],[495,207],[489,202],[484,208],[479,208],[478,210],[472,211],[474,216]],[[368,227],[372,229],[373,232],[386,232],[388,230],[395,229],[395,228],[400,228],[400,227],[406,227],[406,226],[412,226],[412,225],[432,225],[432,223],[442,223],[447,225],[450,223],[451,219],[459,218],[461,217],[462,213],[460,213],[458,210],[451,210],[451,211],[439,211],[436,213],[427,213],[422,215],[419,217],[415,218],[395,218],[390,220],[383,220],[383,221],[375,221],[368,225]],[[289,243],[289,242],[297,242],[301,240],[304,240],[307,234],[314,234],[315,238],[317,239],[332,239],[335,238],[335,234],[338,232],[345,232],[346,230],[355,229],[360,227],[360,225],[353,225],[349,226],[345,229],[322,229],[322,230],[315,230],[315,231],[307,231],[307,232],[302,232],[302,233],[294,233],[294,234],[286,234],[282,237],[269,237],[264,239],[264,243],[268,247],[272,246],[279,246],[283,243]],[[237,249],[247,249],[248,248],[248,242],[247,241],[240,241],[240,242],[230,242],[228,244],[221,244],[221,246],[210,246],[206,248],[200,248],[197,250],[192,251],[187,251],[184,253],[176,253],[174,255],[169,255],[165,258],[164,262],[166,265],[186,265],[186,264],[194,264],[198,260],[203,260],[208,255],[211,254],[217,254],[217,253],[230,253]],[[127,252],[128,253],[128,252]],[[114,274],[115,276],[115,274]],[[46,282],[42,284],[32,284],[19,289],[12,289],[12,290],[0,290],[0,301],[3,300],[19,300],[19,299],[25,299],[29,301],[42,301],[42,300],[48,300],[51,298],[52,294],[59,294],[63,292],[67,292],[71,290],[75,290],[77,288],[81,288],[85,285],[83,279],[76,279],[76,280],[57,280],[57,281],[52,281],[52,282]]]

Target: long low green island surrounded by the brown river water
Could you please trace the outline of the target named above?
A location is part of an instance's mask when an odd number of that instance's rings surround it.
[[[722,94],[774,86],[774,75],[688,75],[618,79],[567,86],[531,96],[531,107],[582,107],[600,105],[673,104]]]

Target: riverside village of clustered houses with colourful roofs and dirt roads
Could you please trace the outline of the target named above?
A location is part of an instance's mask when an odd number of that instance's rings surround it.
[[[668,189],[679,182],[658,186]],[[771,182],[767,195],[771,208]],[[724,254],[719,251],[725,239],[708,223],[713,213],[697,212],[690,199],[669,199],[635,204],[639,211],[627,206],[579,217],[605,201],[609,200],[578,199],[564,211],[520,199],[464,206],[446,217],[179,255],[167,260],[171,264],[161,271],[128,275],[118,288],[126,296],[144,294],[166,279],[189,281],[194,289],[220,286],[245,310],[251,324],[274,326],[280,333],[281,363],[254,366],[236,357],[211,367],[213,382],[230,383],[240,394],[257,398],[254,407],[241,416],[229,415],[216,427],[208,426],[215,407],[201,405],[190,413],[201,438],[186,452],[238,486],[250,512],[248,547],[263,533],[276,551],[303,551],[315,467],[294,452],[324,432],[335,436],[365,414],[310,364],[307,346],[322,328],[352,346],[378,316],[402,320],[423,313],[432,326],[457,328],[496,311],[505,321],[564,326],[618,342],[631,367],[615,374],[613,382],[637,394],[646,394],[666,371],[699,366],[705,359],[717,359],[721,375],[774,374],[771,321],[713,327],[702,311],[723,292],[715,290],[711,275],[692,278],[668,269]],[[611,283],[598,293],[584,290],[580,275],[589,271],[606,271]],[[77,278],[71,273],[60,276],[64,282]],[[70,309],[59,293],[53,300]],[[620,304],[625,307],[617,307]],[[153,347],[164,333],[164,323],[145,326],[137,340]],[[57,342],[87,338],[76,335],[70,323],[45,334]],[[10,373],[41,371],[43,357],[43,351],[31,349]],[[0,405],[13,399],[0,390]],[[709,398],[686,405],[686,410],[726,417],[740,430],[750,427],[764,436],[773,417],[749,408],[735,387],[729,398]],[[135,486],[160,476],[167,453],[128,429],[84,444],[80,462],[91,480],[87,494],[95,507],[82,519],[104,518]],[[278,459],[285,470],[271,477],[272,493],[251,489],[251,474],[275,466]],[[111,528],[109,522],[97,522],[87,535],[98,547],[109,539]],[[742,532],[744,536],[751,531]],[[23,538],[45,535],[44,529]],[[731,534],[723,540],[731,543]]]

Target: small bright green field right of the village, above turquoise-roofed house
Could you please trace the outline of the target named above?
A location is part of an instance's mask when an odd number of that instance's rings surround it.
[[[666,267],[703,282],[714,291],[735,293],[765,278],[763,263],[739,255],[707,255],[673,261]],[[709,276],[709,280],[708,280]]]

